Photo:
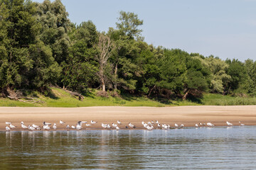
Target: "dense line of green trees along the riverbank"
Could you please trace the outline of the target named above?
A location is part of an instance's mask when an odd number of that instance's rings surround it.
[[[116,28],[100,33],[92,21],[71,23],[60,0],[0,0],[1,96],[50,85],[158,98],[256,95],[256,62],[154,47],[135,13],[119,14]]]

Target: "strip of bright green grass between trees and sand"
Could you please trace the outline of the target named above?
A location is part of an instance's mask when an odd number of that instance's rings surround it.
[[[152,100],[143,96],[123,96],[104,98],[97,96],[97,91],[92,91],[91,94],[85,96],[83,101],[79,101],[62,89],[51,88],[51,93],[48,96],[43,96],[37,92],[33,92],[33,96],[43,101],[43,103],[24,103],[21,101],[12,101],[9,98],[0,98],[0,106],[9,107],[87,107],[87,106],[232,106],[232,105],[256,105],[256,98],[242,98],[232,96],[222,96],[220,94],[204,94],[204,97],[199,101],[182,101],[169,100],[165,103]],[[29,95],[28,95],[29,96]]]

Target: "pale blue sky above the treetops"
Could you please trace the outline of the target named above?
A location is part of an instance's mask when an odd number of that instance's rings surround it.
[[[34,0],[42,2],[43,0]],[[70,21],[115,28],[119,11],[144,21],[144,40],[221,59],[256,60],[256,0],[62,0]]]

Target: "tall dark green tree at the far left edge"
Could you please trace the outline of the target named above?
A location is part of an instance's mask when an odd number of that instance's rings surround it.
[[[36,8],[31,1],[0,1],[1,89],[29,86],[26,75],[33,67],[28,48],[36,44],[40,25],[33,17]]]

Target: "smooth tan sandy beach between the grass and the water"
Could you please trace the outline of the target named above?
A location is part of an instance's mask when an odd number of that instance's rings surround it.
[[[216,126],[226,125],[226,121],[233,125],[256,125],[256,106],[178,106],[178,107],[116,107],[101,106],[87,108],[0,108],[0,130],[5,130],[5,122],[16,125],[21,130],[21,121],[25,125],[43,125],[43,121],[56,123],[59,130],[65,128],[59,120],[68,125],[75,125],[79,120],[95,120],[98,123],[90,126],[90,130],[102,129],[101,123],[122,122],[119,127],[125,128],[129,122],[142,128],[142,121],[159,120],[159,123],[182,123],[185,127],[194,126],[195,123],[211,122]],[[85,127],[85,126],[84,126]]]

